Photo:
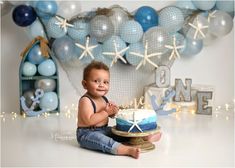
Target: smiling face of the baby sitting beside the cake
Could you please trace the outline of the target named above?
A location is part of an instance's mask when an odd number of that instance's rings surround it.
[[[104,96],[109,91],[109,72],[103,69],[92,69],[85,80],[85,89],[94,97]]]

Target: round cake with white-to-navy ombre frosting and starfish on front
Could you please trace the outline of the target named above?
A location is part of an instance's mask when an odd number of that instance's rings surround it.
[[[157,128],[154,110],[124,109],[116,116],[116,129],[125,132],[146,132]]]

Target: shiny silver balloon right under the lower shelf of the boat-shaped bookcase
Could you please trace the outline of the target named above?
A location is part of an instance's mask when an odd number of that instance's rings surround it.
[[[39,79],[34,84],[35,89],[42,89],[44,92],[52,92],[56,88],[54,79]]]

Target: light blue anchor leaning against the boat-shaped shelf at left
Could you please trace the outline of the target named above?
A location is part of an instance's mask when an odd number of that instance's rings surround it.
[[[34,111],[35,105],[40,103],[39,98],[41,98],[43,95],[44,95],[44,91],[42,89],[37,89],[35,91],[35,97],[32,98],[33,103],[30,107],[26,106],[25,97],[24,96],[20,97],[20,103],[21,103],[22,109],[24,110],[24,112],[27,116],[29,116],[29,117],[38,116],[38,115],[46,112],[46,109]]]

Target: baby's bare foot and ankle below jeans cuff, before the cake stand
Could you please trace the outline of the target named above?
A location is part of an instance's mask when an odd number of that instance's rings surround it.
[[[138,159],[139,155],[140,155],[140,148],[126,146],[126,145],[121,144],[117,148],[117,154],[118,155],[127,155],[127,156],[131,156],[135,159]]]

